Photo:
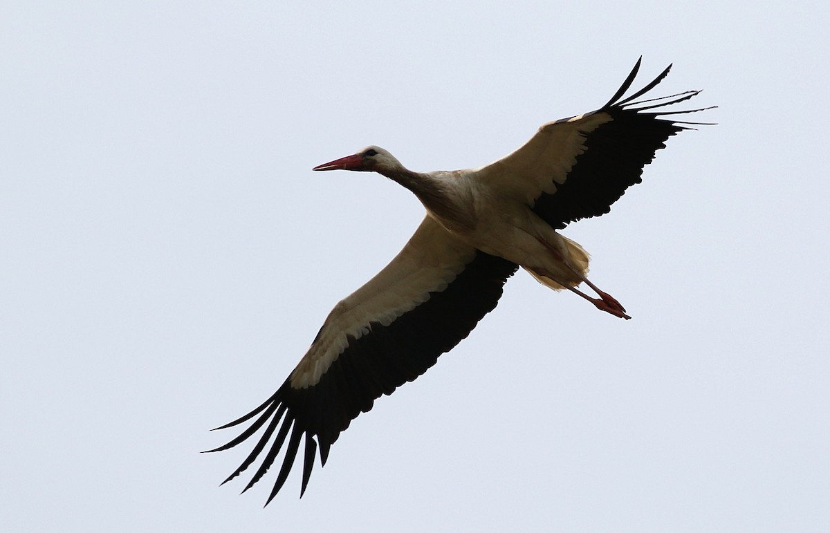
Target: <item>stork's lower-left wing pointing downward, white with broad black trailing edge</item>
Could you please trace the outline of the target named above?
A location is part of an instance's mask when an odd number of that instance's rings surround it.
[[[265,451],[247,490],[271,467],[287,438],[271,501],[305,436],[302,496],[318,444],[325,464],[339,433],[369,411],[374,399],[416,379],[469,335],[496,307],[502,286],[517,268],[459,241],[427,216],[387,267],[334,306],[280,389],[251,413],[222,426],[254,418],[237,438],[211,452],[234,447],[265,427],[251,454],[225,481]]]

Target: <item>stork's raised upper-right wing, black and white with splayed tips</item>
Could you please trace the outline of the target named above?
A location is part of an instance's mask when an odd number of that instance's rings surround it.
[[[671,65],[623,99],[641,60],[608,104],[541,126],[520,149],[476,169],[478,178],[497,194],[531,206],[555,228],[608,213],[628,187],[640,183],[643,167],[658,149],[665,148],[666,139],[686,130],[683,125],[701,124],[661,118],[700,110],[652,111],[688,100],[699,90],[633,101],[657,86]]]

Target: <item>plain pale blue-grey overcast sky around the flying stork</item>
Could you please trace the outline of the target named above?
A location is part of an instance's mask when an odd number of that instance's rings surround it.
[[[286,4],[297,7],[286,7]],[[761,7],[761,6],[765,7]],[[0,530],[830,531],[821,2],[2,2]],[[496,311],[276,477],[199,454],[486,164],[639,88],[705,89],[564,232],[618,320],[520,272]],[[250,474],[249,474],[250,475]]]

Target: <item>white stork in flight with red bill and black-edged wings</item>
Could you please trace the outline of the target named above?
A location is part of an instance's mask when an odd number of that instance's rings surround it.
[[[643,167],[666,139],[688,129],[683,125],[703,124],[661,118],[701,109],[654,111],[699,90],[633,101],[657,86],[671,65],[623,99],[640,61],[599,110],[545,124],[520,149],[478,169],[413,172],[377,146],[315,167],[383,174],[415,193],[427,215],[387,267],[334,306],[280,389],[251,413],[217,428],[254,419],[237,438],[210,452],[237,446],[265,428],[225,482],[265,451],[247,491],[271,467],[287,438],[267,505],[286,482],[305,440],[302,497],[317,448],[325,465],[340,432],[375,399],[416,379],[469,335],[496,307],[502,286],[519,267],[554,290],[568,289],[602,311],[630,318],[585,277],[588,253],[557,230],[608,213],[626,188],[640,183]],[[582,282],[598,297],[580,291]]]

